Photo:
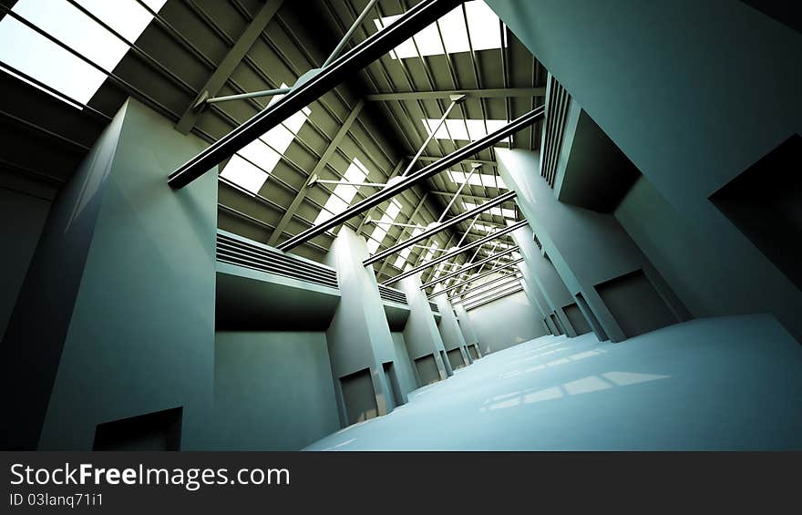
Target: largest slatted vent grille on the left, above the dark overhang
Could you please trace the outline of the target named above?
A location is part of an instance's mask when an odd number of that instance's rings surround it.
[[[217,233],[217,261],[329,288],[340,287],[337,273],[327,266],[225,232]]]

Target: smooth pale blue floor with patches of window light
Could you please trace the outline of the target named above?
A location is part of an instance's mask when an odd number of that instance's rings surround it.
[[[620,344],[543,336],[307,450],[802,448],[802,345],[770,315]]]

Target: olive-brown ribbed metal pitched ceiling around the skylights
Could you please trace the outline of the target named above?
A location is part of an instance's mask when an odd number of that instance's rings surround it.
[[[84,7],[89,15],[95,12],[89,0],[48,1]],[[211,88],[209,96],[218,97],[292,86],[298,77],[324,63],[367,4],[367,0],[167,0],[157,13],[149,8],[156,0],[127,1],[136,2],[140,10],[147,9],[152,20],[135,42],[128,44],[130,49],[118,64],[110,72],[106,70],[108,77],[82,110],[31,88],[16,77],[0,73],[0,88],[6,93],[0,96],[0,133],[6,141],[0,150],[0,170],[5,175],[36,182],[42,195],[52,198],[129,96],[174,120],[182,131],[191,130],[209,142],[220,139],[265,108],[272,98],[220,102],[202,111],[193,110],[192,106],[204,89]],[[7,10],[15,4],[0,0],[0,5],[5,6],[0,15],[8,16]],[[375,19],[400,15],[414,4],[406,0],[377,2],[344,51],[375,34],[378,30]],[[474,8],[476,5],[460,7],[459,12],[452,13],[451,19],[458,19],[454,16],[461,14],[464,23],[470,26],[473,23],[470,13]],[[378,191],[371,186],[346,191],[335,184],[319,183],[312,187],[305,187],[305,184],[313,171],[324,180],[341,180],[355,159],[367,171],[366,182],[384,183],[406,170],[412,163],[411,157],[428,136],[422,120],[436,120],[443,115],[449,105],[448,92],[472,92],[449,114],[451,121],[447,122],[446,136],[455,138],[466,137],[466,134],[460,136],[460,131],[475,136],[484,129],[484,122],[470,120],[509,120],[540,106],[546,84],[545,69],[498,19],[483,16],[482,23],[482,32],[486,32],[482,37],[505,40],[506,45],[472,49],[474,44],[470,37],[478,39],[478,33],[469,30],[468,37],[464,38],[468,41],[468,51],[443,54],[441,48],[439,54],[425,55],[428,52],[425,46],[437,46],[437,38],[416,39],[411,49],[409,44],[403,52],[399,47],[396,58],[381,57],[349,82],[310,104],[305,115],[297,120],[300,129],[297,125],[293,127],[292,137],[283,139],[280,144],[285,148],[277,149],[280,154],[276,156],[277,162],[268,165],[272,170],[264,170],[267,177],[258,190],[246,191],[226,180],[220,181],[220,228],[256,241],[277,244],[312,226],[335,188],[340,193],[345,191],[346,197],[353,196],[344,199],[351,203]],[[449,36],[451,33],[444,33],[442,26],[443,22],[439,34],[434,33],[439,36],[439,45],[446,48],[456,45]],[[428,36],[432,36],[434,28],[427,29]],[[498,36],[493,36],[492,31],[498,31]],[[242,48],[249,34],[252,44]],[[465,44],[463,41],[462,45]],[[477,41],[477,44],[482,43]],[[510,92],[510,88],[519,89]],[[488,91],[497,89],[508,91]],[[515,134],[511,142],[499,145],[539,149],[540,130],[540,123],[537,123]],[[442,132],[445,129],[438,131],[437,136]],[[468,142],[468,139],[436,137],[427,144],[421,159],[411,165],[411,170]],[[47,151],[41,151],[43,148]],[[479,204],[506,192],[489,177],[496,173],[493,149],[482,150],[474,158],[463,161],[461,170],[453,170],[467,175],[471,163],[480,162],[482,167],[478,172],[487,176],[475,177],[474,183],[464,187],[458,201],[451,204],[446,220],[467,211],[471,206],[466,206],[465,202]],[[254,157],[243,151],[242,157],[223,163],[221,176],[226,176],[229,167],[228,173],[236,166],[252,168],[260,159],[260,155]],[[460,188],[452,177],[449,172],[439,173],[427,183],[396,197],[400,211],[395,217],[391,215],[397,210],[388,209],[386,202],[366,215],[352,218],[346,225],[367,238],[383,236],[372,243],[378,251],[404,241],[413,228],[379,225],[386,229],[385,233],[376,231],[375,223],[365,221],[385,216],[385,220],[425,227],[441,218],[451,197]],[[259,182],[256,184],[258,187]],[[500,207],[508,214],[512,211],[519,219],[514,202]],[[481,215],[467,235],[470,221],[440,232],[428,242],[421,242],[421,247],[401,254],[405,259],[399,260],[398,254],[394,254],[375,263],[378,280],[386,281],[400,273],[396,264],[400,268],[414,266],[439,254],[422,247],[437,245],[439,249],[448,249],[460,241],[476,241],[494,226],[503,227],[506,221],[501,216],[502,211],[498,211]],[[321,260],[333,238],[333,233],[325,233],[293,252]],[[512,244],[506,236],[500,238],[499,243]],[[495,248],[501,250],[501,247]],[[472,258],[478,260],[493,250],[494,244],[489,243],[476,255],[463,252],[455,263],[465,263]],[[504,259],[507,258],[509,254]],[[423,281],[429,281],[432,273],[435,267],[424,273]]]

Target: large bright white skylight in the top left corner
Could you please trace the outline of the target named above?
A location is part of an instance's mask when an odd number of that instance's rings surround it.
[[[158,12],[166,1],[145,3]],[[150,23],[149,12],[134,0],[77,2],[130,43]],[[65,0],[19,0],[12,10],[109,72],[129,50],[126,43]],[[0,61],[81,104],[95,95],[107,77],[10,15],[0,21]]]

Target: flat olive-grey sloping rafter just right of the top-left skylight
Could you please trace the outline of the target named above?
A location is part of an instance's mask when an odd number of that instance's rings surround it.
[[[184,111],[184,114],[176,124],[176,130],[181,134],[190,133],[190,130],[195,126],[195,122],[200,116],[200,108],[204,100],[217,95],[229,77],[231,77],[234,68],[239,66],[242,57],[245,57],[245,54],[251,49],[253,43],[259,38],[259,35],[262,34],[264,27],[270,23],[273,15],[278,12],[283,3],[284,0],[267,0],[264,5],[262,5],[262,9],[253,16],[251,24],[245,28],[242,32],[242,36],[234,43],[234,46],[231,46],[226,57],[223,57],[220,66],[218,66],[217,69],[214,70],[214,73],[211,74],[211,77],[207,79],[203,88],[200,88],[200,93],[192,100],[190,107]]]

